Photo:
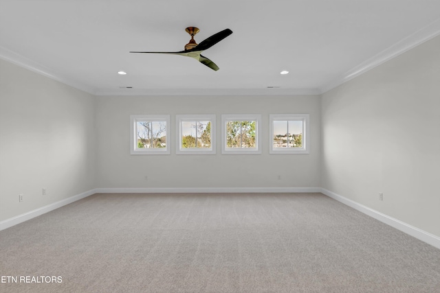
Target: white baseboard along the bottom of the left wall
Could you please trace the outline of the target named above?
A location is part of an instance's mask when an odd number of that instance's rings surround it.
[[[72,202],[76,202],[76,200],[80,200],[82,198],[87,198],[87,196],[91,196],[92,194],[96,194],[95,189],[91,189],[89,191],[85,191],[82,194],[77,194],[76,196],[71,196],[70,198],[66,198],[64,200],[60,200],[58,202],[54,202],[52,204],[47,204],[44,207],[39,209],[34,209],[33,211],[29,211],[28,213],[23,213],[21,215],[17,215],[13,218],[4,220],[0,222],[0,231],[5,228],[12,227],[14,225],[20,224],[32,218],[38,217],[39,215],[43,215],[43,213],[47,213],[53,211],[54,209],[58,209],[60,207],[65,206],[66,204],[70,204]]]

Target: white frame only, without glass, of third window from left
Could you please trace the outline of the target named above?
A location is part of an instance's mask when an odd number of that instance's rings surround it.
[[[226,123],[228,121],[256,121],[256,148],[228,148],[226,146]],[[221,115],[221,153],[222,154],[261,154],[261,114],[223,114]]]

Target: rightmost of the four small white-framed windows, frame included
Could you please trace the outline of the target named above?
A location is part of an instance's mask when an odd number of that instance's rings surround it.
[[[309,154],[309,115],[270,115],[270,154]]]

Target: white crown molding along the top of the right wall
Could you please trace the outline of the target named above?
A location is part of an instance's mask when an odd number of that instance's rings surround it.
[[[406,51],[414,47],[417,47],[418,45],[421,45],[422,43],[425,43],[431,38],[434,38],[439,35],[440,35],[440,19],[437,19],[436,21],[433,21],[429,25],[426,25],[426,27],[423,27],[417,32],[410,34],[409,36],[403,38],[402,40],[395,43],[391,47],[384,49],[375,56],[362,62],[360,65],[347,71],[346,73],[336,78],[335,80],[325,84],[325,86],[322,86],[320,88],[320,92],[322,94],[327,91],[330,91],[331,89],[336,88],[336,86],[339,86],[344,82],[348,82],[349,80],[352,80],[353,78],[361,75],[362,73],[365,73],[366,71],[369,71],[379,65],[382,65],[384,62],[387,62],[388,60],[391,60],[399,56],[400,54],[403,54]]]

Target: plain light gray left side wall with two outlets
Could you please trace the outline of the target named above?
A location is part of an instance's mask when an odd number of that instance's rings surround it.
[[[0,59],[0,222],[94,187],[94,110],[92,95]]]

